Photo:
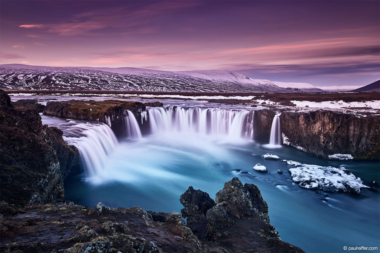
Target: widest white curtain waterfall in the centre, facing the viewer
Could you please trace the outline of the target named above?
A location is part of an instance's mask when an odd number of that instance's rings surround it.
[[[253,110],[220,108],[149,108],[152,134],[185,132],[253,140]]]

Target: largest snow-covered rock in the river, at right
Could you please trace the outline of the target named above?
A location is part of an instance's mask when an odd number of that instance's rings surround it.
[[[307,189],[360,194],[361,188],[368,188],[360,178],[356,178],[344,167],[334,168],[303,164],[302,167],[290,168],[288,171],[294,182]]]

